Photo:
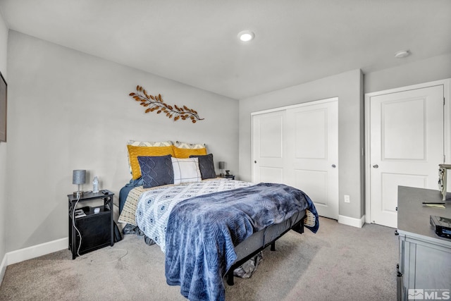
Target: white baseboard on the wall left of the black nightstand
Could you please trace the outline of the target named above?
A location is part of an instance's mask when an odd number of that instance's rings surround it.
[[[49,253],[57,252],[68,248],[69,238],[61,238],[51,242],[44,242],[40,245],[25,247],[24,249],[6,253],[6,264],[16,264],[24,260],[36,258]]]

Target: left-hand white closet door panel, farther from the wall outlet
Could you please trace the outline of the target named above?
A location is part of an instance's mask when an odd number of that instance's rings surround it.
[[[252,117],[252,182],[284,183],[284,121],[285,111]]]

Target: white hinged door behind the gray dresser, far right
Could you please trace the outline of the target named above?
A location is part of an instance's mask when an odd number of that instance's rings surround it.
[[[397,186],[438,190],[444,161],[443,86],[370,99],[371,221],[397,227]]]

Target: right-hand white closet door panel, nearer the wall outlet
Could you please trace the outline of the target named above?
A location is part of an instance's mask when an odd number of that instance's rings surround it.
[[[321,216],[338,219],[338,100],[287,110],[290,185],[314,201]]]

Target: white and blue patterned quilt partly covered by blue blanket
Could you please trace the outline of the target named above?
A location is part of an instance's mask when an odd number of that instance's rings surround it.
[[[248,187],[252,183],[239,180],[204,180],[197,183],[168,185],[144,192],[136,210],[136,225],[166,252],[166,228],[173,207],[185,199],[212,192]]]

